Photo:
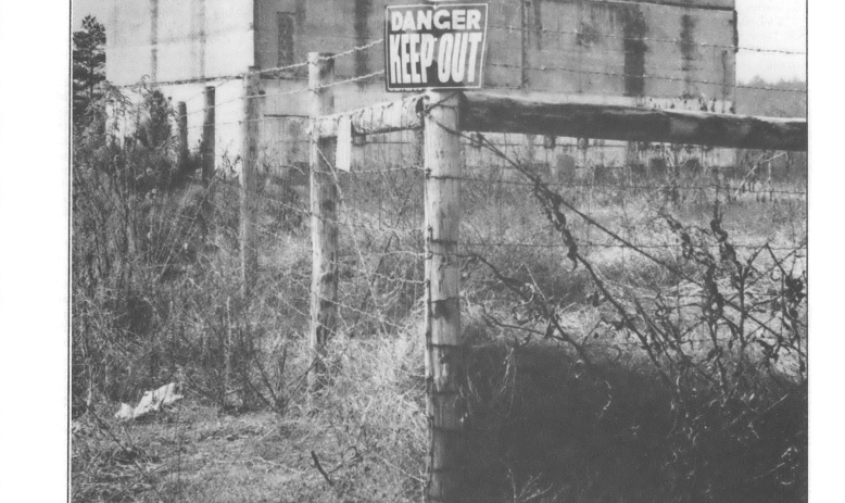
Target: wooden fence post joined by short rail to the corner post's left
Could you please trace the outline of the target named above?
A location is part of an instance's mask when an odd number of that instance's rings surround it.
[[[335,60],[330,54],[308,53],[308,88],[312,124],[316,117],[335,111]],[[338,188],[331,174],[335,140],[311,136],[311,332],[312,367],[308,389],[312,393],[326,385],[326,343],[337,329],[338,298]]]

